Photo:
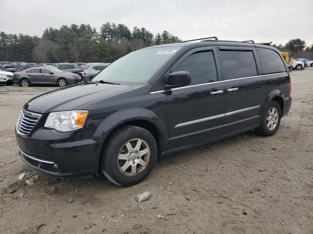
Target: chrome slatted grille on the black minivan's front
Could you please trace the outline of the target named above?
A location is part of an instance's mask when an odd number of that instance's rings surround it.
[[[22,110],[18,122],[16,123],[16,131],[21,135],[28,135],[37,123],[40,114]]]

